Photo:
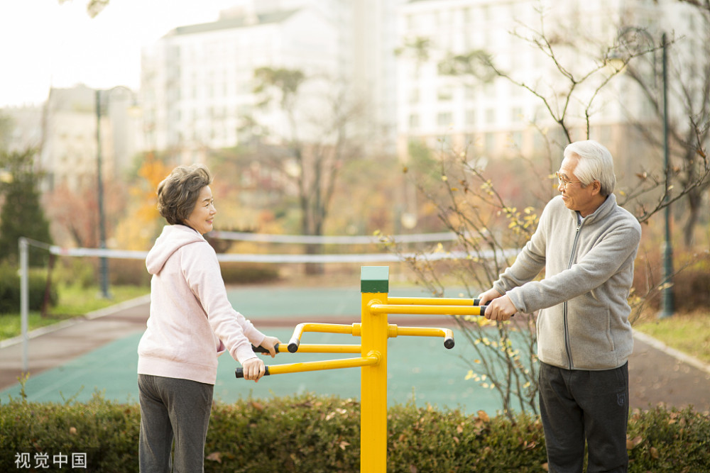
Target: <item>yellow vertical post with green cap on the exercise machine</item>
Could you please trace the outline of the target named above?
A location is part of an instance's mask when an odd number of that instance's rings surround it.
[[[374,314],[370,304],[387,304],[387,266],[361,269],[361,356],[376,355],[380,362],[361,368],[360,472],[387,471],[387,314]]]

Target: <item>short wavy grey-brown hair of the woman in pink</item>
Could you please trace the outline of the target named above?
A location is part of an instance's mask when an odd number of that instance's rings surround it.
[[[197,204],[200,191],[212,183],[204,165],[178,166],[158,184],[158,212],[170,225],[183,223]]]

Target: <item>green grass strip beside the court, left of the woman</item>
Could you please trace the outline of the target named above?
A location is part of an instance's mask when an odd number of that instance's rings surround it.
[[[95,286],[89,288],[62,286],[58,291],[58,304],[50,308],[47,316],[41,316],[38,311],[28,313],[28,328],[35,330],[69,318],[84,316],[89,312],[143,296],[150,291],[147,286],[111,286],[111,299],[104,299],[101,291]],[[21,332],[19,312],[0,314],[0,340],[16,337]]]

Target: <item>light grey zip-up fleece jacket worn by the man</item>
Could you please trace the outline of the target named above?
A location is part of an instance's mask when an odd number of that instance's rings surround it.
[[[633,351],[627,303],[641,238],[634,216],[611,194],[578,222],[552,199],[530,241],[493,287],[537,317],[537,357],[565,369],[613,369]],[[542,269],[545,279],[533,281]]]

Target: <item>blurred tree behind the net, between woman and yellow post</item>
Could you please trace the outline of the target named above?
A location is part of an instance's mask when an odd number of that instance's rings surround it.
[[[260,110],[245,119],[252,142],[263,162],[293,184],[302,235],[323,235],[339,175],[362,154],[354,132],[359,104],[329,80],[299,69],[263,67],[254,75]],[[265,113],[280,116],[280,122],[267,128]],[[320,245],[307,245],[306,252],[320,252]]]

